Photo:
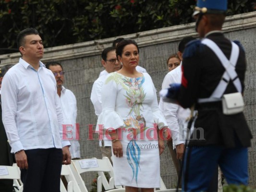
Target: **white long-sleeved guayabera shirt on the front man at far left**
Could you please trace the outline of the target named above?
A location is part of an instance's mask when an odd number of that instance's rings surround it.
[[[63,115],[56,80],[40,62],[38,71],[20,58],[4,76],[1,87],[2,121],[12,152],[62,148]]]

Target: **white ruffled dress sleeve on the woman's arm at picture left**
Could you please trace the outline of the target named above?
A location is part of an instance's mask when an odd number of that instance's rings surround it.
[[[122,117],[115,111],[118,84],[116,81],[113,81],[113,78],[115,78],[115,75],[113,73],[109,74],[102,86],[102,112],[98,117],[97,131],[99,125],[103,125],[103,129],[124,127]]]

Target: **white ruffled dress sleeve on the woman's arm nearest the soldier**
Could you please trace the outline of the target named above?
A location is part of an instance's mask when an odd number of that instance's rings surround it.
[[[145,74],[147,74],[147,73],[145,73]],[[151,82],[152,88],[154,90],[154,101],[151,104],[154,121],[155,121],[155,123],[157,123],[158,129],[168,128],[168,124],[164,118],[164,115],[163,115],[162,111],[160,110],[160,108],[158,107],[158,98],[157,98],[157,93],[155,91],[155,86],[154,86],[153,81],[152,81],[151,77],[149,76],[149,74],[147,74],[147,75],[150,79],[149,81]]]

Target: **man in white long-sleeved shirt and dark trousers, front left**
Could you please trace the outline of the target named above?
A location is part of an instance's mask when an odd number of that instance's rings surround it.
[[[17,36],[22,55],[2,81],[2,120],[21,168],[24,192],[60,191],[62,164],[70,164],[70,142],[62,140],[63,116],[52,72],[40,61],[44,46],[34,28]]]

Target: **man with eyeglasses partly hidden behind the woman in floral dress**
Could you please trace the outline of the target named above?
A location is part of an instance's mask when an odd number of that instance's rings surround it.
[[[101,107],[101,89],[107,76],[111,72],[117,72],[121,69],[121,63],[117,60],[116,49],[114,47],[105,48],[101,53],[101,64],[105,68],[104,74],[99,76],[94,82],[91,93],[91,101],[95,108],[95,114],[100,115],[102,111]],[[98,127],[96,128],[98,131]],[[103,140],[99,140],[100,151],[103,156],[107,156],[111,161],[111,141],[108,140],[103,134]],[[112,161],[111,161],[112,163]]]

